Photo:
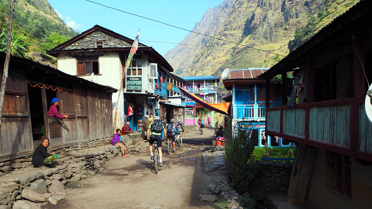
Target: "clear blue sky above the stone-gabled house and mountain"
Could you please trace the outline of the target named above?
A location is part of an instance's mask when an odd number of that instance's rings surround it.
[[[92,0],[135,15],[144,16],[179,28],[192,30],[208,8],[218,6],[223,0]],[[86,0],[48,0],[58,15],[73,29],[85,31],[100,25],[134,39],[138,29],[140,42],[152,46],[164,55],[189,33],[161,23],[109,9]]]

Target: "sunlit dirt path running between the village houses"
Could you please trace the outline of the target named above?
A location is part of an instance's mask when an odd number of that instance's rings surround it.
[[[104,164],[93,176],[69,184],[65,200],[48,208],[121,208],[121,209],[194,209],[214,208],[198,200],[199,194],[211,194],[208,184],[226,180],[224,176],[209,176],[204,172],[201,153],[211,145],[214,128],[183,134],[183,145],[176,153],[165,154],[163,167],[154,173],[148,150],[130,152],[130,158],[116,157]]]

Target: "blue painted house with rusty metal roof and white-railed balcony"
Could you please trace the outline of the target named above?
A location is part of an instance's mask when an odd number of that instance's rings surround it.
[[[265,143],[270,147],[289,147],[292,143],[280,137],[265,136],[266,126],[266,87],[265,80],[257,77],[269,68],[246,68],[231,70],[230,76],[223,80],[227,90],[231,90],[231,96],[224,100],[230,100],[232,113],[232,128],[239,124],[251,124],[253,129],[258,129],[259,140],[256,147],[263,147]],[[276,88],[270,88],[270,107],[280,106],[280,97],[276,97]]]

